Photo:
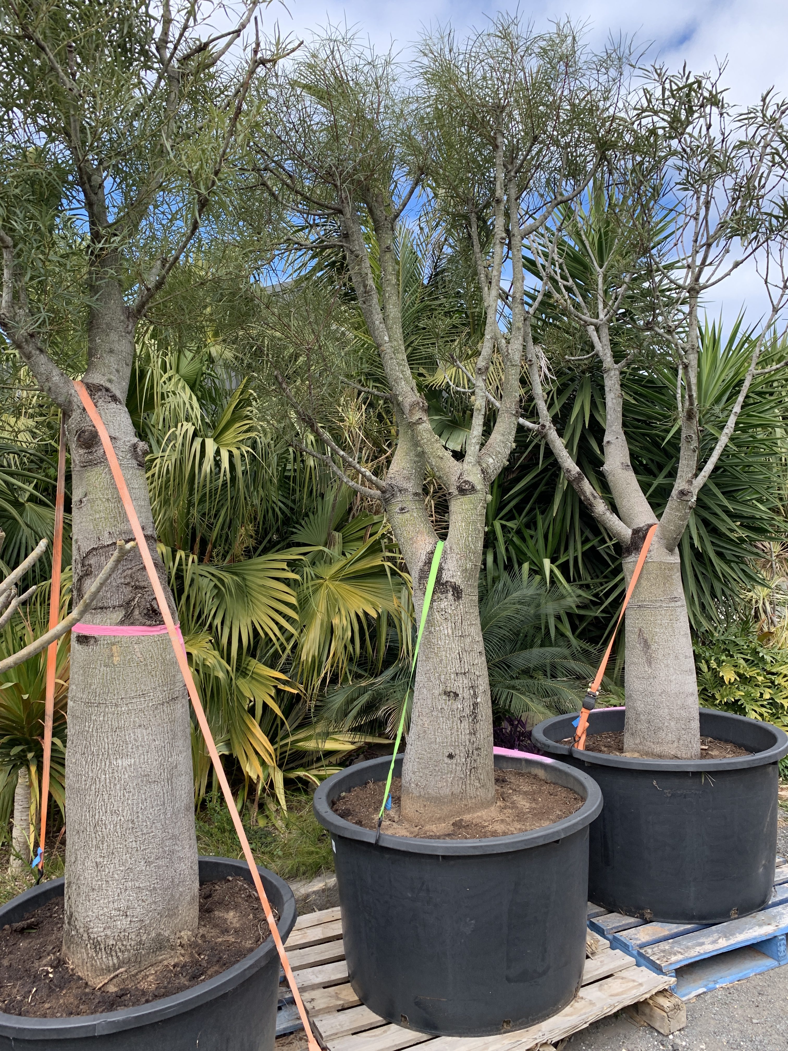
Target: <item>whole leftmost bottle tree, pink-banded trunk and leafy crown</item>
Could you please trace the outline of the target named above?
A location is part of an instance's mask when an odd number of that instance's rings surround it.
[[[254,37],[244,46],[256,6],[249,0],[236,24],[211,34],[198,3],[0,2],[0,328],[66,418],[75,603],[130,532],[64,371],[84,368],[83,346],[85,386],[166,588],[147,447],[126,409],[134,333],[221,221],[256,111],[252,81],[281,54]],[[138,551],[91,621],[162,623]],[[75,639],[68,722],[63,945],[96,981],[153,960],[198,924],[188,699],[167,636]]]

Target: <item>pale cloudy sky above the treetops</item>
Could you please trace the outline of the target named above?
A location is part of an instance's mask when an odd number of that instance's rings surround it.
[[[430,24],[481,28],[486,16],[505,6],[505,0],[287,0],[287,6],[274,0],[265,21],[270,27],[275,18],[284,34],[298,36],[329,21],[347,21],[378,47],[394,41],[407,48]],[[734,102],[756,102],[772,85],[788,95],[787,0],[533,0],[520,9],[537,27],[569,16],[585,24],[589,41],[600,45],[609,34],[635,37],[671,66],[686,62],[690,68],[711,69],[717,60],[727,60]],[[726,322],[746,306],[747,320],[754,323],[766,303],[756,274],[743,267],[708,306],[722,311]]]

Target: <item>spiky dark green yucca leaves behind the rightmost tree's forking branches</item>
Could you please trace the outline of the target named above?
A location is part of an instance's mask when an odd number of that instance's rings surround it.
[[[699,354],[701,451],[717,441],[749,364],[750,336],[741,325],[725,338],[708,324]],[[765,352],[765,365],[785,356],[782,345]],[[556,425],[579,467],[608,501],[602,466],[605,410],[601,369],[556,365],[552,394]],[[622,375],[624,427],[633,467],[659,516],[667,502],[679,458],[676,379],[659,359],[630,366]],[[525,415],[528,415],[526,407]],[[538,438],[520,433],[504,481],[488,507],[491,575],[527,562],[549,580],[593,589],[590,638],[599,638],[623,594],[616,543],[597,526],[576,491]],[[701,490],[681,544],[682,576],[690,621],[719,624],[760,582],[759,543],[783,531],[788,430],[783,380],[753,380],[737,429],[709,481]],[[611,502],[611,501],[610,501]]]

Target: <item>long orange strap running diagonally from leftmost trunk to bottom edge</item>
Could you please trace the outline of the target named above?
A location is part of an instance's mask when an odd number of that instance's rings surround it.
[[[211,736],[210,727],[208,726],[208,720],[205,718],[205,712],[203,705],[200,702],[200,695],[198,694],[196,686],[194,685],[194,680],[191,676],[191,668],[189,667],[188,661],[186,659],[186,652],[181,644],[181,639],[179,637],[179,631],[172,620],[172,615],[169,612],[169,606],[167,605],[167,600],[164,595],[164,591],[157,576],[155,569],[153,566],[153,559],[148,551],[148,543],[145,539],[145,535],[142,531],[140,524],[140,519],[137,517],[137,512],[134,511],[134,506],[131,502],[131,497],[129,496],[128,488],[126,487],[126,479],[123,477],[123,472],[121,471],[121,466],[118,462],[118,457],[115,454],[115,449],[112,449],[112,442],[110,441],[107,429],[104,426],[104,421],[99,415],[96,406],[90,398],[84,384],[79,380],[74,382],[74,386],[77,388],[77,393],[82,399],[82,404],[85,407],[85,412],[90,417],[90,420],[99,432],[101,438],[101,444],[104,447],[104,452],[106,454],[107,460],[109,462],[109,469],[112,472],[112,477],[115,478],[115,483],[118,487],[118,493],[120,494],[123,507],[128,516],[129,523],[131,526],[131,532],[134,534],[134,539],[137,540],[138,548],[140,549],[140,554],[142,555],[142,560],[145,564],[145,569],[148,574],[148,579],[150,580],[150,586],[153,589],[153,594],[155,595],[157,602],[159,603],[159,609],[161,610],[162,617],[164,618],[164,623],[167,626],[167,634],[169,635],[170,642],[172,643],[172,650],[175,655],[175,660],[178,661],[181,673],[186,682],[186,688],[189,692],[189,697],[191,698],[191,703],[194,706],[194,715],[196,716],[198,723],[200,724],[200,729],[203,731],[203,737],[205,738],[205,743],[208,746],[208,754],[211,757],[213,767],[216,771],[216,777],[219,778],[219,783],[222,786],[222,791],[224,794],[225,800],[227,801],[227,808],[230,811],[230,817],[232,818],[232,823],[235,826],[235,831],[237,833],[239,840],[241,841],[241,846],[244,850],[244,857],[249,865],[249,871],[251,872],[252,880],[254,881],[254,886],[256,888],[257,894],[260,895],[261,904],[263,905],[263,910],[266,914],[266,920],[268,921],[268,926],[271,930],[271,936],[273,937],[274,944],[276,945],[276,951],[279,954],[279,960],[282,961],[282,967],[285,971],[285,976],[287,977],[288,984],[293,993],[293,1000],[295,1006],[298,1009],[298,1014],[300,1015],[300,1021],[304,1023],[304,1030],[307,1034],[307,1039],[309,1042],[310,1051],[320,1051],[317,1040],[312,1034],[312,1029],[309,1025],[309,1018],[307,1016],[304,1003],[300,998],[300,993],[298,992],[298,986],[296,985],[295,977],[293,976],[292,968],[287,959],[285,952],[285,946],[283,945],[279,932],[276,929],[276,921],[273,918],[273,912],[271,911],[271,906],[269,904],[268,898],[266,897],[265,889],[263,888],[263,881],[260,878],[260,872],[257,871],[257,866],[254,863],[254,858],[252,856],[251,847],[249,846],[249,840],[246,838],[246,832],[244,831],[244,826],[239,817],[239,811],[235,807],[235,801],[232,798],[232,791],[230,790],[230,785],[227,782],[227,777],[225,776],[224,767],[222,766],[222,760],[219,758],[219,753],[216,751],[216,745],[213,743],[213,737]]]

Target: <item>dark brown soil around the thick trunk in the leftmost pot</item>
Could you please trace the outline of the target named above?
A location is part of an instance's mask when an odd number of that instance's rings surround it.
[[[221,974],[268,935],[252,884],[241,877],[204,883],[196,934],[184,937],[178,949],[154,966],[118,972],[94,988],[62,957],[63,899],[56,898],[0,930],[0,1011],[53,1018],[148,1004]]]

